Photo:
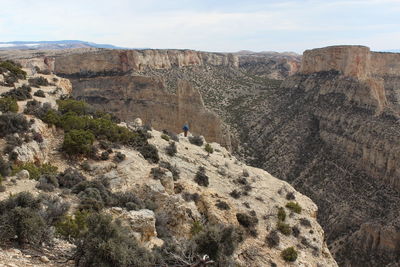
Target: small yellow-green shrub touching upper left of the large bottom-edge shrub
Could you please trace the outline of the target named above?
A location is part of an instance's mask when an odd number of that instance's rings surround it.
[[[79,238],[87,231],[87,211],[76,211],[73,215],[64,215],[61,220],[55,225],[56,232],[67,238]]]

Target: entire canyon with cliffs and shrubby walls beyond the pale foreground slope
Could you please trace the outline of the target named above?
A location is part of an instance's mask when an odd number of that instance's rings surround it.
[[[216,141],[319,207],[339,266],[400,264],[400,54],[76,49],[7,55],[118,117]],[[300,66],[301,62],[301,66]]]

